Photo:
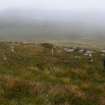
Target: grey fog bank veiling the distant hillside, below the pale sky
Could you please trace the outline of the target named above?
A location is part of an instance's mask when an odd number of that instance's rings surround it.
[[[5,9],[0,11],[0,40],[105,40],[100,11]]]

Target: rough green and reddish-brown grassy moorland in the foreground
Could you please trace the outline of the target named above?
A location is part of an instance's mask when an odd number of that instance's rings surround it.
[[[0,105],[105,105],[105,69],[64,47],[0,42]]]

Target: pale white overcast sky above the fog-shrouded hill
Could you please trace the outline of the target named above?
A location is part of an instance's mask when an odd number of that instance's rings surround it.
[[[7,8],[105,11],[105,0],[0,0],[0,10]]]

